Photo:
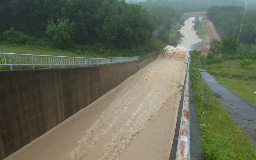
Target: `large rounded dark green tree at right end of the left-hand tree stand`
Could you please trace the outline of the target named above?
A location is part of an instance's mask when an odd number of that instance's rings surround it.
[[[144,44],[151,32],[148,12],[137,4],[127,5],[120,14],[117,8],[112,8],[106,17],[105,30],[101,31],[109,44],[125,48]]]

